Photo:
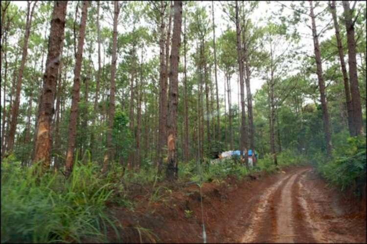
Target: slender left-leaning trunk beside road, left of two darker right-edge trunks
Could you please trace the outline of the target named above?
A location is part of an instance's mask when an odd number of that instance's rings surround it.
[[[319,37],[316,30],[315,23],[315,15],[314,15],[314,7],[312,1],[310,3],[310,16],[312,21],[312,35],[314,37],[314,47],[315,47],[315,58],[316,58],[316,66],[317,66],[317,76],[319,80],[319,89],[320,89],[320,98],[321,98],[321,109],[322,109],[322,118],[323,118],[323,127],[325,133],[325,142],[326,142],[326,151],[327,155],[331,156],[331,138],[330,138],[330,128],[329,128],[329,115],[327,112],[327,104],[326,104],[326,95],[325,95],[325,83],[322,77],[322,66],[321,66],[321,53],[319,47]]]

